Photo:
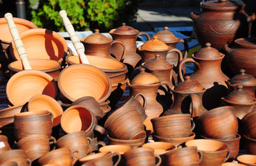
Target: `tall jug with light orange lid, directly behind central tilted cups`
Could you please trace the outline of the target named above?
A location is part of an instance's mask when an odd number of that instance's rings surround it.
[[[127,82],[127,84],[131,95],[135,96],[140,93],[145,96],[147,100],[147,107],[145,108],[147,118],[143,123],[147,130],[153,131],[150,120],[160,116],[163,112],[163,106],[156,100],[157,90],[161,83],[156,76],[146,73],[145,68],[140,68],[140,74],[136,75],[131,83]],[[139,102],[143,104],[143,100],[139,100]]]

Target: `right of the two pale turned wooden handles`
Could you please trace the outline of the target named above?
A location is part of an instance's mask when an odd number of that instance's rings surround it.
[[[59,12],[59,15],[60,15],[60,17],[62,17],[66,31],[68,32],[68,34],[71,38],[71,41],[72,41],[73,45],[75,46],[75,50],[77,51],[82,64],[90,64],[86,55],[84,54],[84,49],[82,48],[82,43],[80,42],[77,35],[75,34],[75,30],[71,24],[71,21],[69,21],[68,17],[66,16],[66,11],[61,10]]]

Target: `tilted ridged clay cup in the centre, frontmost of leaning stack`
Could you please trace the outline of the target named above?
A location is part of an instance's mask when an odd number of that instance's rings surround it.
[[[125,105],[111,113],[104,124],[113,138],[134,140],[146,136],[143,119],[134,105]]]

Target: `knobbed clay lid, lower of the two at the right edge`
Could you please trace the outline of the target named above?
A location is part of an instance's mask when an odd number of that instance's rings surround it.
[[[228,102],[254,102],[252,96],[248,92],[244,91],[243,86],[241,84],[238,84],[237,89],[228,93],[228,95],[224,99]]]

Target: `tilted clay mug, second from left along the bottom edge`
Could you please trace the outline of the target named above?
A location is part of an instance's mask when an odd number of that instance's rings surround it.
[[[70,151],[67,147],[49,151],[37,161],[40,165],[57,164],[62,166],[73,166],[80,157],[79,151]]]

